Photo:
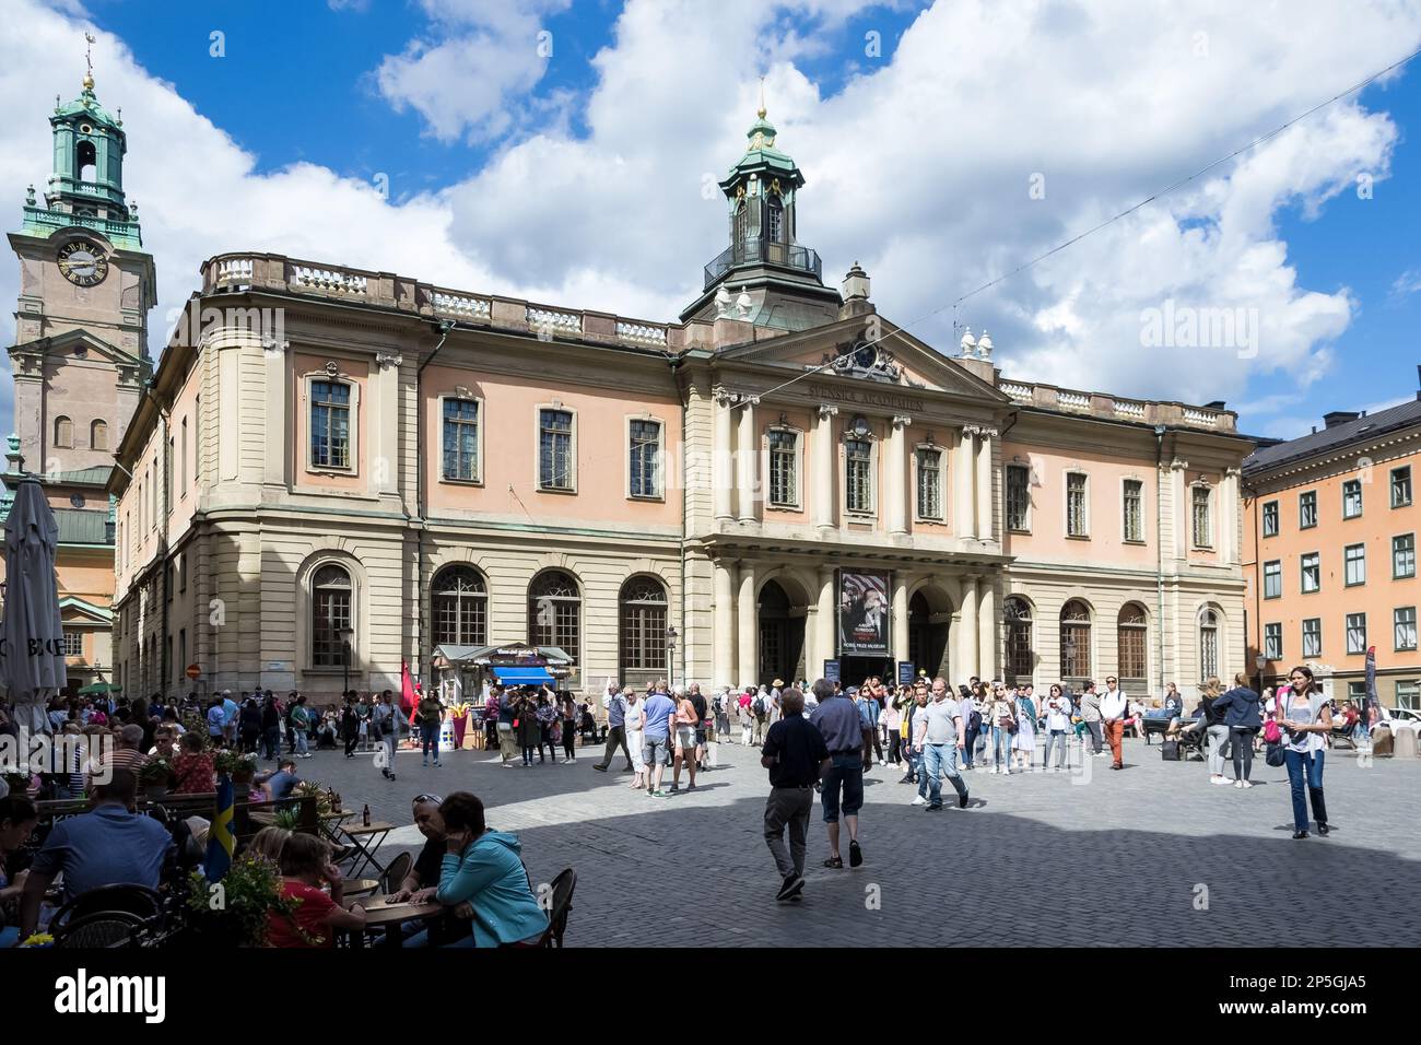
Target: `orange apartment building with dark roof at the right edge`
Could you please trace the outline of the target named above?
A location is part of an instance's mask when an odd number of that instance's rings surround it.
[[[1243,462],[1248,655],[1263,685],[1309,664],[1330,697],[1357,697],[1374,645],[1381,702],[1421,708],[1418,472],[1421,392],[1327,414]]]

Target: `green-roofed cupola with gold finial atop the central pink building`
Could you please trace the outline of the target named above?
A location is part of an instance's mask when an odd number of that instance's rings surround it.
[[[763,88],[746,149],[719,182],[729,209],[730,245],[705,267],[705,286],[682,321],[716,318],[726,294],[746,294],[749,323],[806,330],[833,323],[838,293],[824,286],[818,252],[799,243],[797,196],[804,173],[776,148],[777,131],[767,119]],[[716,297],[720,290],[722,307]]]

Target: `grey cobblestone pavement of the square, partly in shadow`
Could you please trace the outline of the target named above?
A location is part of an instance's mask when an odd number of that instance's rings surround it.
[[[1130,739],[1123,772],[1110,772],[1108,758],[1086,759],[1086,773],[979,769],[968,773],[972,805],[958,809],[945,788],[936,813],[908,805],[915,789],[897,783],[898,769],[877,766],[865,781],[864,866],[820,866],[828,846],[816,805],[804,901],[780,906],[757,748],[720,745],[720,766],[665,800],[627,786],[620,752],[612,772],[594,772],[600,752],[504,769],[496,752],[460,751],[426,769],[402,751],[391,783],[369,755],[323,751],[300,772],[396,825],[411,825],[421,791],[475,792],[492,826],[522,837],[534,884],[577,869],[570,947],[1268,947],[1279,923],[1260,903],[1296,897],[1299,886],[1317,907],[1287,931],[1292,944],[1421,945],[1421,921],[1405,914],[1421,881],[1418,761],[1364,766],[1353,752],[1327,752],[1333,833],[1306,842],[1292,840],[1287,771],[1262,756],[1252,789],[1219,788],[1204,763],[1162,762],[1158,745]],[[1079,765],[1079,749],[1071,759]],[[404,826],[381,859],[421,842]],[[1341,914],[1358,891],[1368,914]]]

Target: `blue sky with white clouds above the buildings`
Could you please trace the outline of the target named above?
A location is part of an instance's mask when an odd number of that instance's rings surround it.
[[[951,351],[944,304],[1421,45],[1414,0],[1290,10],[1276,26],[1205,0],[0,0],[9,24],[34,27],[0,44],[0,202],[17,227],[90,27],[99,95],[131,134],[155,328],[196,262],[232,249],[669,320],[723,246],[723,209],[701,188],[736,159],[763,74],[809,179],[801,240],[826,282],[863,260],[880,309],[924,317],[914,333]],[[534,60],[539,34],[551,55]],[[1317,114],[961,318],[992,328],[1009,377],[1223,398],[1253,434],[1412,397],[1418,75]],[[1044,199],[1026,191],[1037,173]],[[7,300],[14,283],[11,264]],[[1258,357],[1142,347],[1141,310],[1164,300],[1256,310]],[[0,414],[9,427],[9,390]]]

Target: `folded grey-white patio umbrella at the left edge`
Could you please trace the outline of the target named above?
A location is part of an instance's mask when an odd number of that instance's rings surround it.
[[[4,525],[4,626],[0,627],[0,685],[16,725],[31,735],[48,728],[45,708],[64,688],[64,626],[54,552],[60,526],[33,476],[20,479]]]

